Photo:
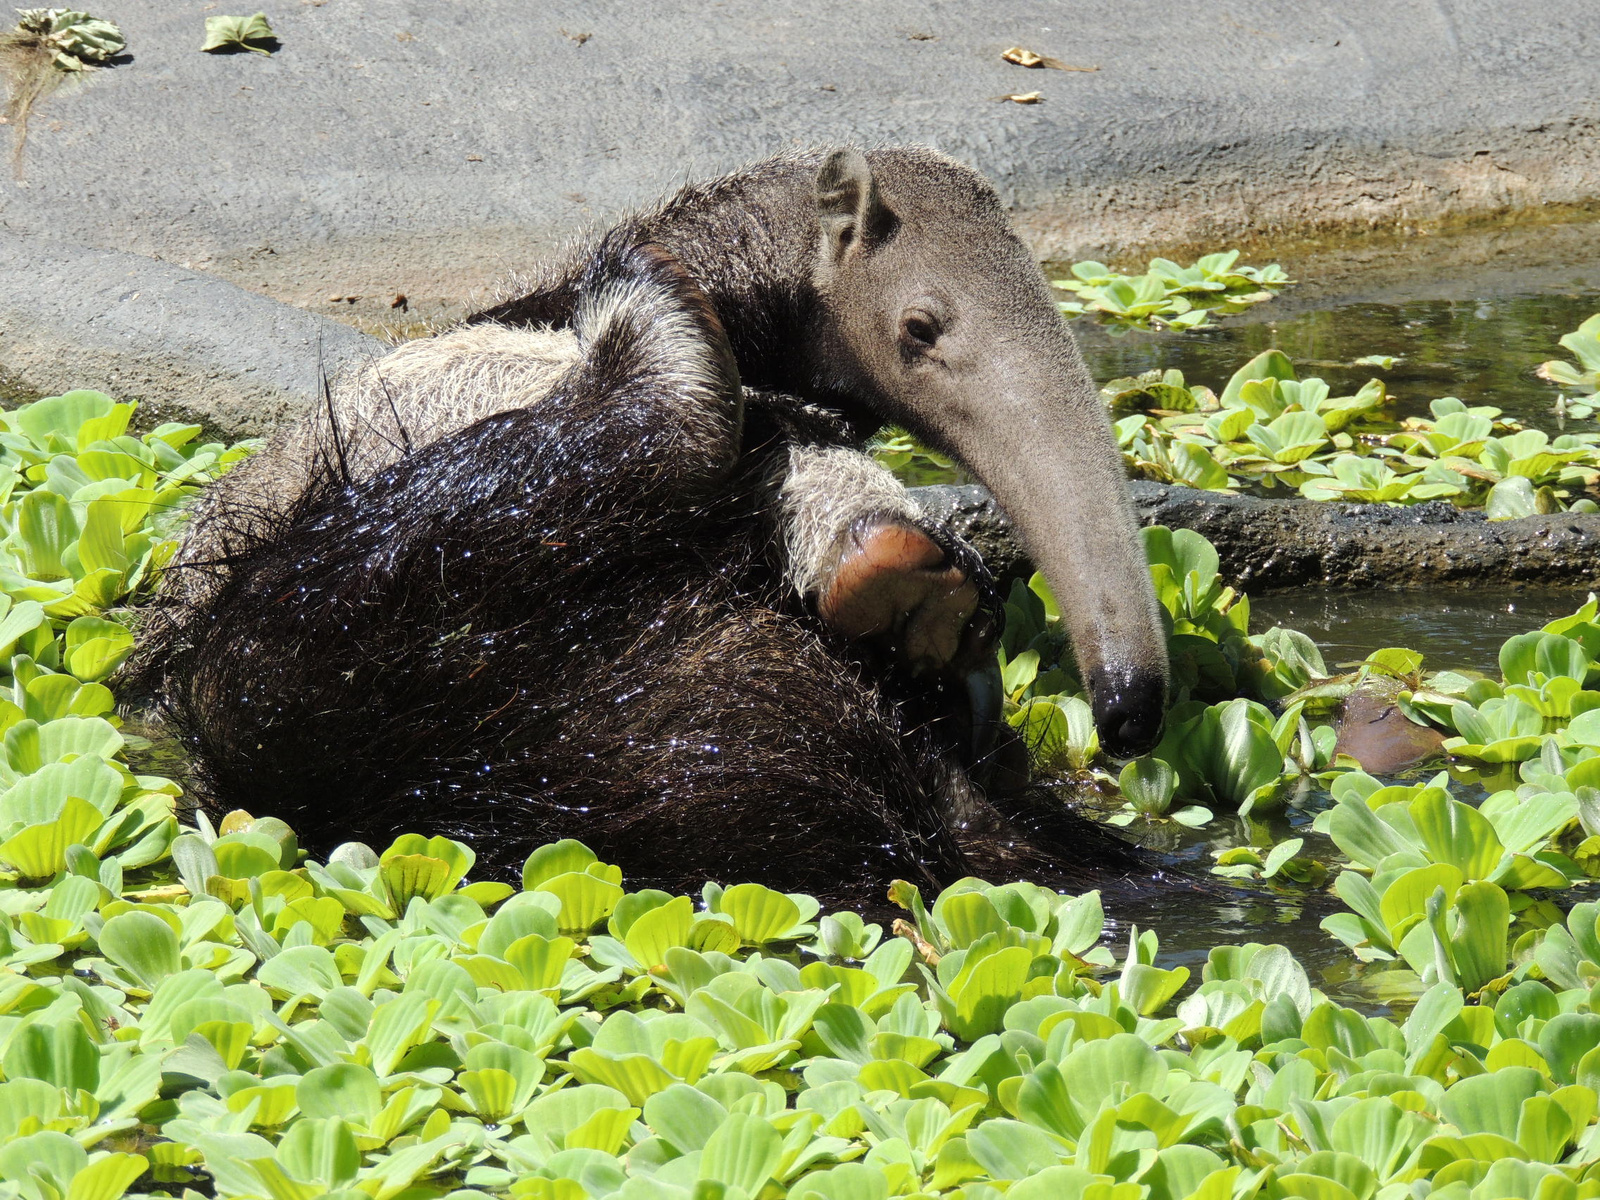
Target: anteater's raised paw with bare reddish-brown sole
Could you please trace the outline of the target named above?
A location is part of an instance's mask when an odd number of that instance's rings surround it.
[[[994,651],[994,587],[970,547],[902,518],[856,522],[822,584],[818,613],[874,638],[914,675],[965,672]]]

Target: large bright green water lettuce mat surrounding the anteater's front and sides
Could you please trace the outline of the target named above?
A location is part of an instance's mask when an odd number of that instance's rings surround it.
[[[1370,1014],[1283,946],[1173,963],[1096,893],[898,883],[885,931],[757,883],[630,890],[576,842],[510,883],[427,830],[317,859],[282,821],[182,813],[104,680],[170,506],[240,451],[130,414],[0,418],[0,1197],[1600,1195],[1600,906],[1558,902],[1600,861],[1594,602],[1512,638],[1498,682],[1368,664],[1424,718],[1514,699],[1544,723],[1482,806],[1330,768],[1325,926],[1402,1002]],[[1186,702],[1270,739],[1261,781],[1322,757],[1315,646],[1251,637],[1203,539],[1147,539]],[[1048,590],[1010,608],[1013,717],[1054,709],[1021,722],[1093,763]],[[1251,762],[1181,758],[1232,798]],[[1123,794],[1176,816],[1178,778],[1139,760]],[[1222,869],[1314,883],[1301,845]]]

